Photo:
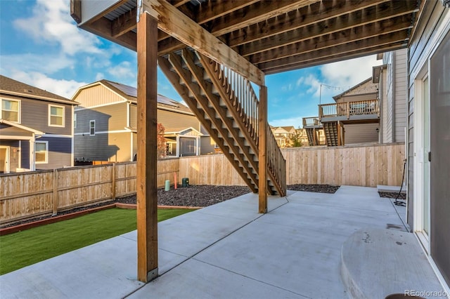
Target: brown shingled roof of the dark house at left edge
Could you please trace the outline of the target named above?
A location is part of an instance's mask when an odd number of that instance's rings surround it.
[[[14,95],[23,98],[33,98],[37,100],[47,100],[50,102],[59,102],[63,104],[78,105],[79,103],[56,95],[49,91],[44,91],[20,81],[0,75],[0,93]]]

